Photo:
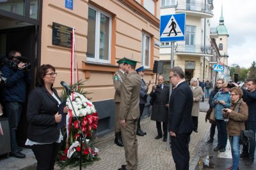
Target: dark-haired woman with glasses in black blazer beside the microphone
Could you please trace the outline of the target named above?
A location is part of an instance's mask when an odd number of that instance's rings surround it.
[[[36,169],[54,169],[54,162],[58,153],[61,139],[58,123],[61,114],[58,113],[61,104],[52,85],[57,73],[50,64],[39,67],[36,73],[36,88],[28,98],[28,139],[25,145],[30,145],[37,160]],[[68,107],[63,108],[68,112]]]

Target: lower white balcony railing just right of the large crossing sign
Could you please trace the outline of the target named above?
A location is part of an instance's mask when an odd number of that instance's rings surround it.
[[[177,44],[175,46],[175,52],[212,54],[212,47],[207,45],[204,48],[204,45]]]

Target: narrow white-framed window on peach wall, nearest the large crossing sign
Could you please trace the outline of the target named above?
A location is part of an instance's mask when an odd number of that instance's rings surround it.
[[[142,57],[141,57],[141,65],[145,68],[150,67],[150,35],[145,32],[142,33]]]

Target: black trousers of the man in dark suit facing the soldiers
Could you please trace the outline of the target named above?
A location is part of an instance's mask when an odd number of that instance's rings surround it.
[[[177,170],[189,170],[189,140],[190,134],[171,136],[172,157]]]

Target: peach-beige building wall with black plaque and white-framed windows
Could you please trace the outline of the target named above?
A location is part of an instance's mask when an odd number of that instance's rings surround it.
[[[62,90],[61,80],[70,83],[70,48],[52,45],[52,22],[76,28],[79,80],[86,80],[84,89],[92,92],[88,95],[92,101],[113,99],[113,74],[118,69],[116,60],[133,57],[141,62],[142,32],[151,36],[150,68],[146,71],[145,81],[152,79],[154,60],[159,60],[159,46],[154,42],[159,42],[160,1],[155,1],[158,7],[155,16],[140,3],[143,1],[81,0],[74,1],[73,10],[69,10],[65,8],[65,1],[43,1],[41,64],[52,64],[56,68],[58,76],[54,87],[58,92]],[[111,61],[104,66],[86,62],[87,43],[90,43],[87,41],[89,4],[112,16]]]

